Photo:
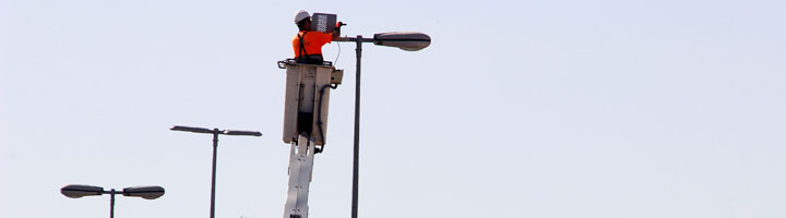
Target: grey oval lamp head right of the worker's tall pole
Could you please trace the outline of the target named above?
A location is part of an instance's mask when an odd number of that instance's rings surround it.
[[[374,45],[396,47],[406,51],[417,51],[431,45],[431,37],[417,32],[391,32],[374,34]]]

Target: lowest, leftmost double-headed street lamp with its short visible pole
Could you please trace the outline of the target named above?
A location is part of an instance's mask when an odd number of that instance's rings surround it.
[[[122,194],[123,196],[142,197],[145,199],[155,199],[164,195],[164,187],[160,186],[131,186],[126,187],[120,192],[111,189],[105,191],[104,187],[84,184],[69,184],[60,189],[60,193],[71,198],[80,198],[84,196],[95,196],[102,194],[109,194],[109,218],[115,217],[115,194]]]

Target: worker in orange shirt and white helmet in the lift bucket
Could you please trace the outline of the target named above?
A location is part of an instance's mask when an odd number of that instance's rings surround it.
[[[322,64],[322,46],[338,39],[341,25],[333,33],[311,31],[311,15],[303,11],[295,13],[295,24],[300,32],[293,38],[295,60],[299,63]]]

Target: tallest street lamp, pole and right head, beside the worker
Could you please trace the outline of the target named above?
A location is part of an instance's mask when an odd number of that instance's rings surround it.
[[[357,37],[341,37],[338,41],[355,41],[356,66],[355,66],[355,140],[353,155],[353,202],[352,218],[357,218],[358,207],[358,173],[359,173],[359,150],[360,150],[360,57],[362,53],[362,43],[373,43],[378,46],[396,47],[406,51],[417,51],[431,45],[431,37],[424,33],[417,32],[392,32],[374,34],[373,38],[364,38],[361,35]]]

